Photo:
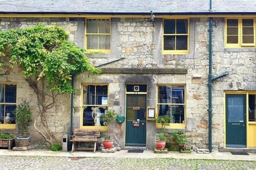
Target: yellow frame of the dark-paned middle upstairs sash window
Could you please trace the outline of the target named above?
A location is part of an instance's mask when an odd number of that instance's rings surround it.
[[[170,20],[170,19],[173,19],[175,20],[175,23],[176,23],[176,20],[187,20],[187,34],[176,34],[176,29],[177,29],[177,26],[175,25],[175,34],[165,34],[165,20]],[[172,55],[172,54],[177,54],[177,55],[185,55],[185,54],[189,54],[189,31],[190,31],[190,20],[189,18],[165,18],[162,20],[162,54],[163,55]],[[163,40],[163,37],[165,35],[173,35],[175,36],[175,44],[176,44],[176,36],[177,35],[187,35],[187,50],[176,50],[176,45],[175,45],[175,50],[165,50],[164,49],[164,40]]]

